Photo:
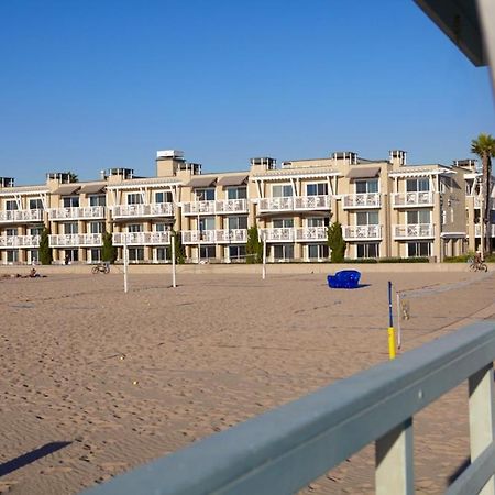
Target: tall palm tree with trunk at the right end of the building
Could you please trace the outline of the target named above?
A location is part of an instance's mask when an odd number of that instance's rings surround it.
[[[481,240],[482,252],[491,250],[491,193],[492,193],[492,157],[495,156],[495,139],[492,134],[480,134],[477,139],[471,141],[471,153],[480,156],[482,162],[482,199],[483,208],[481,211],[481,221],[485,227],[486,249],[484,249],[484,240]]]

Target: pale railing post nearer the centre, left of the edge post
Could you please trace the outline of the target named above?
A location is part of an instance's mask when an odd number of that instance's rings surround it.
[[[376,495],[413,495],[413,418],[376,440],[375,449]]]

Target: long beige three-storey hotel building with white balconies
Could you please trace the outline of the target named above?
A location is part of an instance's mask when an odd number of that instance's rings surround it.
[[[271,262],[327,260],[327,227],[334,221],[345,256],[355,260],[440,262],[475,250],[482,234],[476,162],[408,165],[399,150],[380,161],[337,152],[279,166],[257,157],[246,170],[218,174],[202,174],[200,164],[167,150],[157,152],[155,177],[110,168],[97,180],[70,179],[48,173],[43,185],[15,186],[0,177],[0,264],[37,262],[44,227],[61,264],[99,262],[106,231],[120,260],[128,246],[131,263],[170,262],[172,229],[189,263],[244,262],[252,226]]]

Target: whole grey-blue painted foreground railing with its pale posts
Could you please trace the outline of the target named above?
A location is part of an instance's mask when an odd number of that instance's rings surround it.
[[[494,359],[495,321],[477,322],[85,494],[289,494],[374,441],[376,493],[413,494],[413,417],[464,381],[472,464],[448,493],[475,493],[494,483]]]

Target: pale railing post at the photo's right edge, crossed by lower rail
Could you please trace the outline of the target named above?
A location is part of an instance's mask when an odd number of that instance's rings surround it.
[[[469,380],[470,449],[471,462],[494,441],[494,391],[493,363],[481,369]],[[483,495],[495,494],[495,477],[492,476]]]

